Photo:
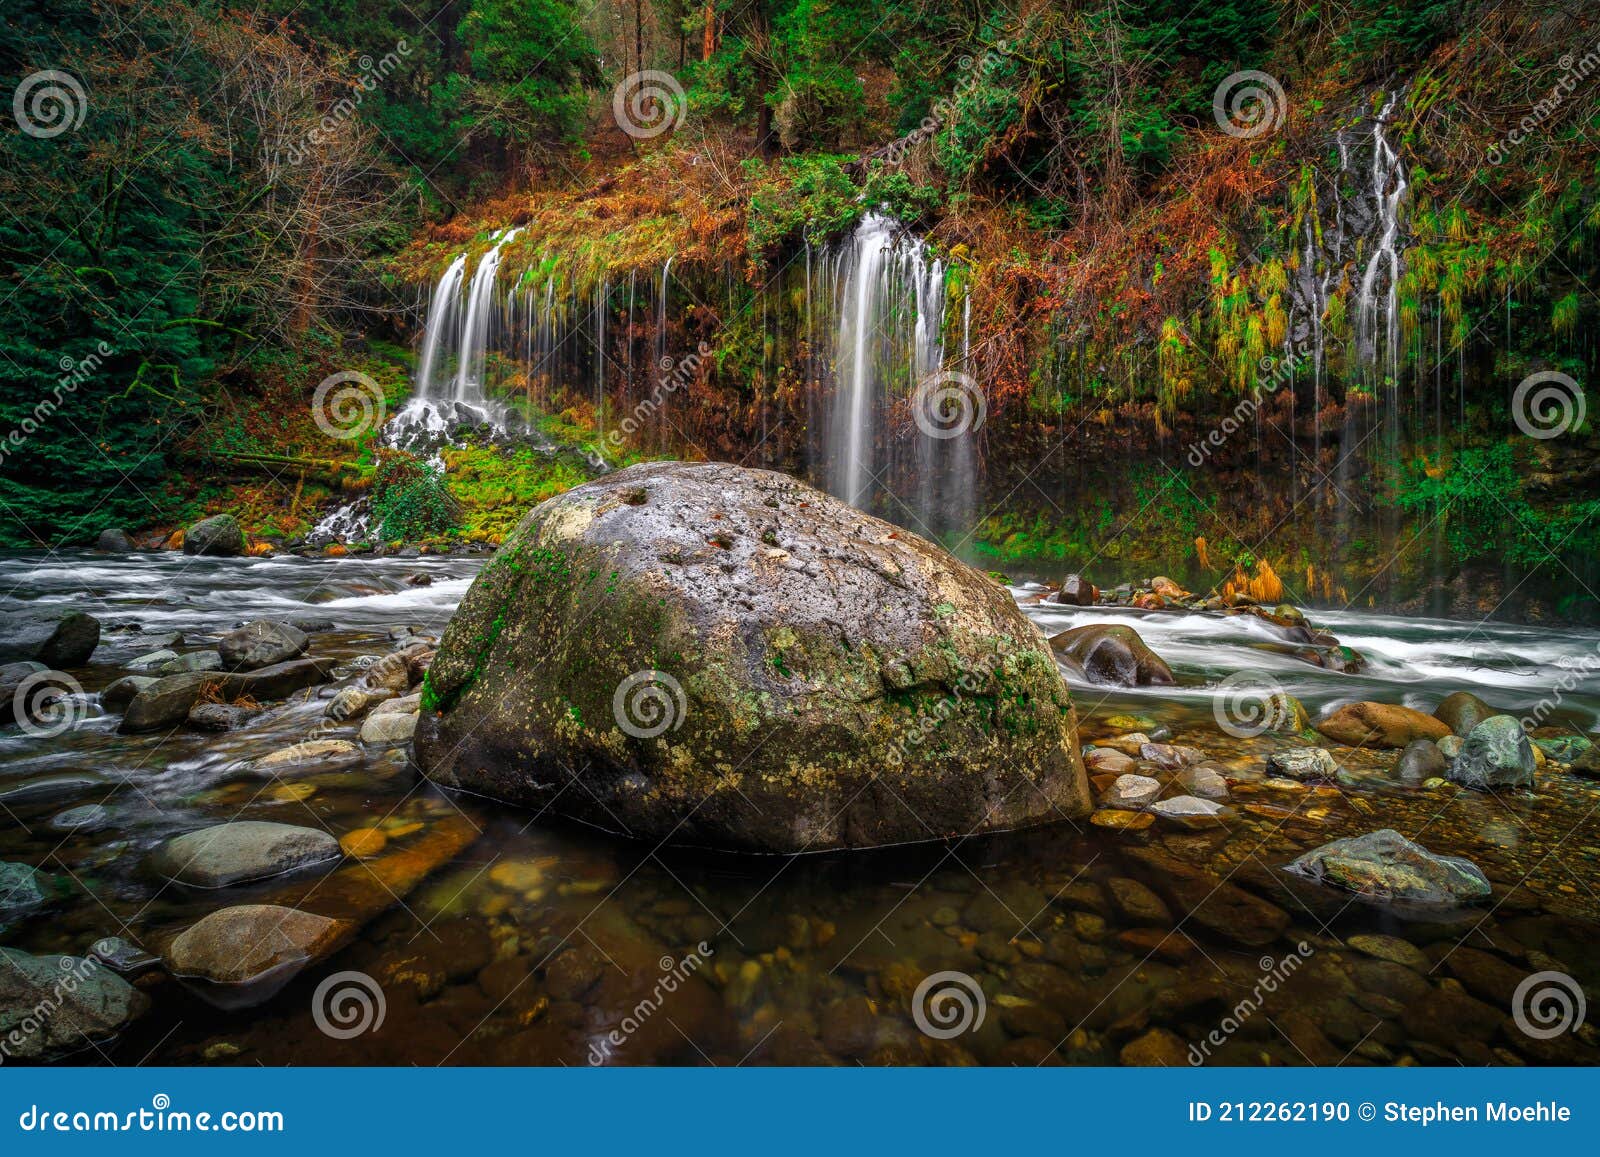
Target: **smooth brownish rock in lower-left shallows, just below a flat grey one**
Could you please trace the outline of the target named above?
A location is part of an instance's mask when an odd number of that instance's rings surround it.
[[[278,904],[224,907],[186,928],[163,959],[174,976],[251,987],[282,987],[344,933],[339,920]],[[251,999],[258,994],[251,994]]]

